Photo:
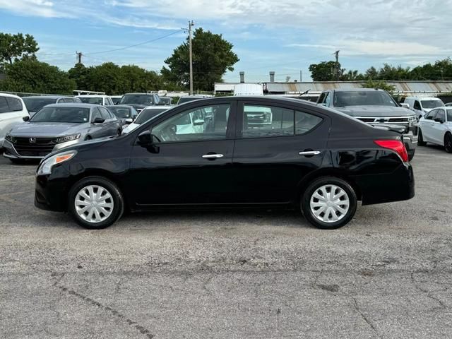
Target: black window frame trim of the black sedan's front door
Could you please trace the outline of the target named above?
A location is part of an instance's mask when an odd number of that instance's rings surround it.
[[[169,145],[169,144],[176,144],[176,143],[200,143],[200,142],[210,142],[210,141],[233,141],[235,138],[235,119],[237,117],[237,100],[221,100],[221,101],[216,101],[215,102],[203,102],[204,105],[202,106],[198,106],[198,105],[194,105],[196,103],[197,100],[194,100],[193,104],[188,104],[188,105],[193,105],[191,107],[180,107],[179,109],[175,109],[174,112],[172,112],[172,114],[167,115],[167,114],[163,114],[162,117],[158,117],[155,121],[150,122],[149,124],[145,124],[145,126],[141,126],[141,128],[137,128],[136,130],[136,136],[135,136],[135,144],[138,145],[136,143],[138,136],[143,133],[146,130],[151,130],[153,129],[154,126],[157,126],[158,124],[160,124],[162,121],[165,121],[167,119],[170,119],[171,117],[174,117],[174,115],[189,111],[189,110],[194,110],[194,109],[202,109],[203,107],[212,107],[212,106],[218,106],[218,105],[229,105],[230,109],[229,109],[229,119],[227,119],[227,127],[226,127],[226,138],[221,138],[221,139],[202,139],[202,140],[184,140],[184,141],[162,141],[160,143],[155,143],[155,145]],[[172,110],[172,109],[169,109]],[[142,124],[143,125],[143,124]],[[152,133],[152,131],[151,131]]]

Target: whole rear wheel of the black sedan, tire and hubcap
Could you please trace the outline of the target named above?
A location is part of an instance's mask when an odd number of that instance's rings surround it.
[[[343,227],[355,215],[357,197],[352,186],[336,177],[316,179],[304,191],[301,208],[315,227],[333,230]]]

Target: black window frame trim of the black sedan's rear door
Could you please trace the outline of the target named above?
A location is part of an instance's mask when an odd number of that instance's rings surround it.
[[[284,108],[284,109],[290,109],[294,112],[294,134],[292,134],[292,136],[254,136],[251,138],[244,138],[242,136],[243,133],[243,113],[244,113],[244,105],[253,105],[253,106],[269,106],[269,107],[276,107],[276,108]],[[302,109],[302,110],[301,110]],[[316,117],[319,117],[322,119],[322,121],[317,124],[314,129],[310,129],[307,132],[301,133],[301,134],[296,134],[295,130],[296,130],[296,126],[295,126],[295,112],[302,112],[302,113],[307,113],[307,114],[311,114],[314,115]],[[235,126],[235,131],[236,131],[236,136],[235,139],[240,139],[240,140],[253,140],[253,139],[262,139],[262,138],[297,138],[300,136],[305,136],[308,133],[312,133],[314,132],[316,129],[319,129],[320,126],[322,126],[325,121],[326,121],[326,115],[323,114],[319,114],[318,112],[315,112],[311,109],[307,109],[304,107],[296,107],[296,106],[292,106],[292,105],[280,105],[279,102],[261,102],[259,100],[239,100],[238,105],[237,105],[237,114],[236,114],[236,126]]]

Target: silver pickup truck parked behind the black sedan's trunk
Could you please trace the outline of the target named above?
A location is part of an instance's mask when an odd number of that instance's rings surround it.
[[[372,126],[405,127],[403,142],[408,150],[408,157],[412,160],[415,156],[417,118],[410,109],[400,107],[385,90],[372,88],[327,90],[320,95],[317,104],[337,109]]]

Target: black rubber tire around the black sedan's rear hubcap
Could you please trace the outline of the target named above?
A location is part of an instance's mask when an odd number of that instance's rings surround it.
[[[318,191],[322,186],[325,185],[335,185],[338,186],[338,188],[345,191],[345,193],[348,196],[349,200],[349,208],[345,215],[343,215],[342,218],[338,221],[331,221],[331,222],[323,222],[316,218],[314,213],[311,210],[311,196]],[[304,218],[308,220],[311,225],[314,225],[317,228],[321,228],[323,230],[334,230],[339,227],[343,227],[346,225],[350,220],[352,220],[353,216],[355,215],[356,208],[357,208],[357,197],[355,194],[355,191],[353,190],[352,186],[345,182],[345,180],[337,178],[337,177],[321,177],[319,179],[314,180],[307,189],[302,194],[302,198],[300,201],[300,207],[302,210],[302,213],[304,215]]]

